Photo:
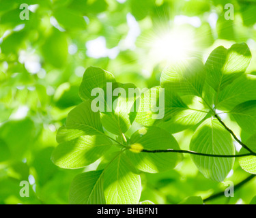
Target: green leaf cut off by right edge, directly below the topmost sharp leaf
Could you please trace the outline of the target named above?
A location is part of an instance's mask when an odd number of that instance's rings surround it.
[[[256,99],[256,76],[244,75],[229,84],[218,95],[216,108],[232,110],[238,104]]]

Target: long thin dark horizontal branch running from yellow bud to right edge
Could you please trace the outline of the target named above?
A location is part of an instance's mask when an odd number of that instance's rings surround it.
[[[248,153],[242,155],[214,155],[214,154],[205,154],[205,153],[198,153],[195,151],[188,151],[188,150],[174,150],[174,149],[166,149],[166,150],[145,150],[143,149],[141,152],[144,153],[188,153],[190,155],[199,155],[205,157],[246,157],[246,156],[256,156],[255,153]]]

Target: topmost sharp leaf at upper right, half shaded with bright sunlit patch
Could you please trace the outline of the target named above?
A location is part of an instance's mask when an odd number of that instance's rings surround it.
[[[206,79],[215,91],[221,91],[244,74],[250,61],[251,52],[245,43],[233,44],[229,49],[219,46],[205,63]]]

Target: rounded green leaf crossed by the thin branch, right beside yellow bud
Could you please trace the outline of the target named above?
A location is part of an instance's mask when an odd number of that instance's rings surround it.
[[[141,153],[142,149],[180,149],[171,134],[159,127],[144,127],[136,131],[130,138],[131,149],[127,155],[134,166],[143,172],[163,172],[173,169],[180,160],[177,153]]]

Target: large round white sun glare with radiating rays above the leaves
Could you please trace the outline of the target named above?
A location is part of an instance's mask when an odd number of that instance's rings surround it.
[[[154,40],[151,55],[156,62],[171,62],[188,57],[191,50],[193,50],[193,40],[188,33],[171,31]]]

